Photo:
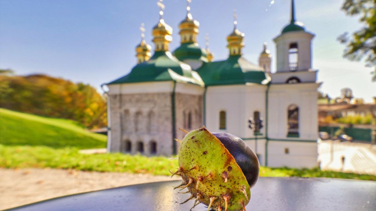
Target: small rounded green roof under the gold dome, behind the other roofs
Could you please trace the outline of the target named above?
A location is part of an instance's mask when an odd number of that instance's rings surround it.
[[[176,50],[174,50],[173,55],[180,61],[185,59],[196,59],[208,62],[206,51],[203,48],[200,48],[199,44],[194,42],[182,43],[176,48]]]

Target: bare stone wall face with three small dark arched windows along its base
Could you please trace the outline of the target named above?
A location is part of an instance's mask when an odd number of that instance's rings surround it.
[[[112,94],[111,152],[136,154],[142,143],[143,154],[172,154],[171,93]],[[130,142],[129,145],[126,142]]]

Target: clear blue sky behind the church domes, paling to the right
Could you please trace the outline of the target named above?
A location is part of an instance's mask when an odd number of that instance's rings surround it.
[[[296,18],[316,36],[312,42],[314,69],[320,88],[330,96],[349,87],[356,97],[371,102],[376,83],[363,62],[342,58],[336,41],[343,32],[361,27],[359,17],[340,10],[342,0],[296,0]],[[228,56],[226,36],[237,9],[238,29],[245,33],[244,56],[257,63],[262,43],[273,56],[273,38],[290,20],[290,0],[193,0],[191,14],[200,22],[199,44],[209,47],[214,60]],[[173,27],[170,50],[179,46],[178,24],[185,17],[185,0],[164,0],[164,19]],[[156,0],[0,0],[0,68],[17,74],[44,73],[72,81],[100,84],[127,74],[136,63],[139,26],[145,23],[146,41],[158,22]],[[153,46],[153,45],[152,45]]]

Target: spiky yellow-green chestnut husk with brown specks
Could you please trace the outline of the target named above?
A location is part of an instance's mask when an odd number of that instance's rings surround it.
[[[192,199],[211,209],[238,211],[249,202],[250,187],[242,170],[205,127],[190,131],[180,143],[176,173],[184,180],[180,188],[188,188]]]

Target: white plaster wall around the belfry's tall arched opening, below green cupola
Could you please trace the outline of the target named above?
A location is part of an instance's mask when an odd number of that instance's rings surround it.
[[[312,66],[311,40],[314,34],[299,31],[288,32],[274,38],[277,48],[277,69],[276,71],[289,71],[288,50],[290,44],[298,44],[298,71],[308,70]]]

